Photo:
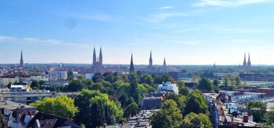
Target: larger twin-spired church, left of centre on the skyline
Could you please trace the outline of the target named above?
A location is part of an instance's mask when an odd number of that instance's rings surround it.
[[[105,72],[105,68],[103,67],[103,55],[102,49],[100,48],[99,59],[96,57],[95,48],[93,50],[93,60],[91,66],[92,73],[103,73]]]

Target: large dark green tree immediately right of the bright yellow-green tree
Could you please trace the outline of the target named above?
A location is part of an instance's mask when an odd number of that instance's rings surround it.
[[[86,127],[100,127],[104,123],[114,125],[123,118],[120,103],[115,104],[108,99],[108,94],[98,90],[82,90],[75,97],[75,106],[79,108],[75,121]]]

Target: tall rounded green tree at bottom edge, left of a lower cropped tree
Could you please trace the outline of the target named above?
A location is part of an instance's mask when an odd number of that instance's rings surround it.
[[[182,124],[183,115],[173,100],[166,100],[161,109],[151,116],[153,128],[175,128]]]

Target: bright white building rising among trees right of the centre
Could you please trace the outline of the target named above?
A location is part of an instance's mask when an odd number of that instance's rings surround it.
[[[157,88],[158,92],[166,91],[166,92],[172,92],[174,94],[179,93],[179,89],[176,84],[171,84],[171,81],[163,81],[163,84],[160,84]]]

